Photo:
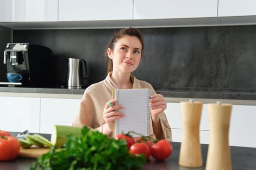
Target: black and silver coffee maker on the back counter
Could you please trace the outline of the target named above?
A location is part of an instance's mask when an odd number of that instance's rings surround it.
[[[23,87],[51,87],[53,82],[53,52],[28,43],[8,43],[4,51],[7,73],[20,73]]]

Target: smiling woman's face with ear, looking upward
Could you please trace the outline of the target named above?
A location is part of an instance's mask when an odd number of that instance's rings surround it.
[[[130,73],[141,59],[142,45],[136,36],[124,35],[117,40],[114,50],[108,49],[108,56],[113,60],[113,71]]]

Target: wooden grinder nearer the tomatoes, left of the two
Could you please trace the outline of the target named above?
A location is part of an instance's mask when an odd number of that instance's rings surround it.
[[[201,167],[202,152],[199,142],[199,125],[202,102],[180,102],[182,114],[182,141],[179,153],[179,165],[184,167]]]

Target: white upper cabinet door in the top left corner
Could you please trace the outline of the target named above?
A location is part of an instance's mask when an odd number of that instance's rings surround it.
[[[1,0],[0,22],[58,21],[58,0]]]

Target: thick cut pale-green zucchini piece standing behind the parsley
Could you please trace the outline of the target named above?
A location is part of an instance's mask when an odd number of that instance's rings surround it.
[[[51,143],[55,147],[62,147],[67,141],[67,135],[73,134],[75,136],[81,135],[81,128],[66,125],[54,125],[51,135]]]

